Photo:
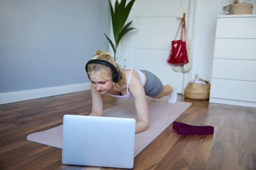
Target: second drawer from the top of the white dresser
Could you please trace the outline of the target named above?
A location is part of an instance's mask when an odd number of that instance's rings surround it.
[[[214,58],[256,60],[256,39],[216,38]]]

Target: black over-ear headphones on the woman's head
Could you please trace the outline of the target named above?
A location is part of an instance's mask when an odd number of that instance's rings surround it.
[[[120,77],[121,77],[121,74],[120,74],[120,70],[118,70],[113,64],[105,61],[105,60],[99,60],[99,59],[95,59],[95,60],[89,60],[87,63],[86,63],[86,66],[85,66],[85,70],[87,72],[87,75],[89,77],[89,74],[88,74],[88,65],[89,64],[92,64],[92,63],[96,63],[96,64],[102,64],[102,65],[105,65],[109,68],[111,68],[114,72],[113,72],[113,75],[112,75],[112,80],[113,82],[117,83],[119,80],[120,80]],[[89,77],[90,79],[90,77]]]

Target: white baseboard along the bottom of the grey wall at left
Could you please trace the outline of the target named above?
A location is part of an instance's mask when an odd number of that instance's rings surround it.
[[[13,91],[0,93],[0,104],[20,102],[32,99],[39,99],[49,96],[85,91],[90,89],[90,83],[81,83],[75,85],[62,85],[47,88],[38,88],[32,90]]]

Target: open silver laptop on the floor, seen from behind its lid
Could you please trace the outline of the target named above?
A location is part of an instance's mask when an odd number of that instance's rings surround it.
[[[132,169],[135,123],[130,118],[64,115],[62,164]]]

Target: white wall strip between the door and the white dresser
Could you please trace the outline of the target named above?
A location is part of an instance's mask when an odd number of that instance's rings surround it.
[[[222,7],[232,4],[233,1],[197,0],[191,80],[196,74],[198,78],[211,80],[217,15],[223,15]],[[253,14],[256,14],[256,0],[245,0],[245,2],[254,4]]]

